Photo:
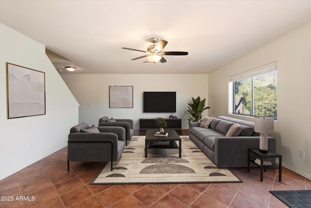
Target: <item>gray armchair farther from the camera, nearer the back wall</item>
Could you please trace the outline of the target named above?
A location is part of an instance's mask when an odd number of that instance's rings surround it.
[[[134,121],[132,119],[114,119],[104,116],[99,119],[98,126],[119,126],[125,129],[126,140],[125,144],[127,146],[127,140],[131,140],[134,134]]]

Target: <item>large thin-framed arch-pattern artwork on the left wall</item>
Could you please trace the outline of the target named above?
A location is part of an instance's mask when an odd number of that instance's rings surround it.
[[[6,63],[8,118],[45,114],[45,73]]]

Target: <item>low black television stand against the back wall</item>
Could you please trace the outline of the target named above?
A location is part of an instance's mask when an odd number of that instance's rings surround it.
[[[155,124],[157,118],[140,118],[139,119],[139,130],[152,130],[160,129]],[[181,118],[165,118],[167,127],[165,129],[181,130]]]

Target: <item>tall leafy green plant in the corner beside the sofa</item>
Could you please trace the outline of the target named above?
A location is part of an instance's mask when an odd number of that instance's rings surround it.
[[[201,100],[200,96],[198,96],[196,99],[192,97],[192,102],[188,103],[188,111],[185,113],[189,112],[191,117],[189,117],[189,122],[190,121],[202,121],[202,113],[206,109],[209,109],[210,107],[205,107],[205,98]]]

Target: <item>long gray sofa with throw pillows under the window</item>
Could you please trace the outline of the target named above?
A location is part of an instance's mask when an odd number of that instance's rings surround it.
[[[238,123],[242,128],[239,136],[225,136],[229,128]],[[259,133],[254,132],[254,122],[214,117],[209,128],[200,127],[201,122],[190,122],[190,140],[218,168],[247,167],[248,149],[259,149]],[[276,139],[268,137],[268,150],[276,151]],[[275,158],[269,158],[275,164]]]

